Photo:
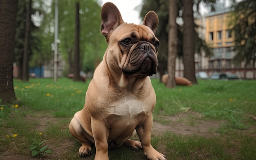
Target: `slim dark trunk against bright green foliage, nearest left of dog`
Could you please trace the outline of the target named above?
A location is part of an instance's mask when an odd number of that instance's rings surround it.
[[[79,69],[79,2],[76,2],[76,36],[75,36],[75,54],[74,54],[74,81],[80,81],[80,69]]]

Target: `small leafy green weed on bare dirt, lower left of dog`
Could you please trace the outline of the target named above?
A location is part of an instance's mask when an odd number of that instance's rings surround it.
[[[39,136],[41,135],[37,134],[36,138],[32,138],[32,145],[29,147],[29,149],[32,151],[32,157],[34,156],[45,156],[46,154],[50,154],[53,153],[53,151],[51,150],[47,150],[48,146],[43,146],[43,144],[45,142],[47,142],[47,140],[43,140],[42,142],[39,141]]]

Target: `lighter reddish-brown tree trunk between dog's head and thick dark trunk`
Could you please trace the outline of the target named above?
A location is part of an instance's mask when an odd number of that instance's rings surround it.
[[[175,88],[175,57],[177,55],[177,1],[169,0],[168,62],[167,88]]]

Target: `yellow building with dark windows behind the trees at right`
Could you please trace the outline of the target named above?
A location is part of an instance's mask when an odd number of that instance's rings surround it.
[[[234,68],[231,60],[235,56],[235,43],[230,21],[230,9],[221,9],[205,15],[205,42],[213,51],[213,57],[209,59],[209,69]]]

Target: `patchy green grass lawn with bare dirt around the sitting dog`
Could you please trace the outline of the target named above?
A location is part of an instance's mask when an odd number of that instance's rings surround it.
[[[89,82],[14,79],[18,101],[0,106],[0,159],[40,159],[32,157],[33,149],[29,149],[38,138],[39,142],[47,140],[42,144],[48,146],[43,152],[53,152],[41,159],[81,160],[80,143],[70,135],[68,125],[84,105]],[[168,160],[256,159],[256,81],[198,83],[166,89],[158,79],[152,79],[157,95],[153,147]],[[83,159],[94,156],[95,150]],[[146,160],[143,151],[123,146],[110,149],[109,156],[110,160]]]

